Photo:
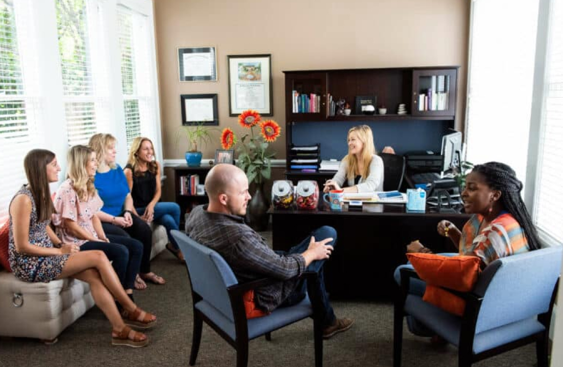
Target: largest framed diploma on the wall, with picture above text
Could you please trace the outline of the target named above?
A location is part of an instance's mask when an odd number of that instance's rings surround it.
[[[272,55],[229,55],[229,115],[272,111]]]

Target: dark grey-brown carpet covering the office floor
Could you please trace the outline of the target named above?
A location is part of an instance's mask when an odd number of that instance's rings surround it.
[[[137,303],[159,317],[148,332],[145,348],[114,347],[110,325],[93,307],[64,330],[59,342],[45,346],[33,339],[0,338],[0,366],[187,366],[191,346],[191,295],[185,267],[168,252],[153,260],[153,270],[167,279],[166,285],[149,285],[136,292]],[[333,302],[338,316],[356,322],[348,332],[324,342],[324,366],[392,366],[391,303]],[[405,329],[403,366],[457,366],[453,347],[436,349],[426,338]],[[235,353],[223,339],[204,326],[196,366],[235,366]],[[312,322],[303,320],[272,333],[272,341],[255,339],[249,347],[249,366],[314,366]],[[531,367],[533,345],[504,353],[476,364],[479,367]]]

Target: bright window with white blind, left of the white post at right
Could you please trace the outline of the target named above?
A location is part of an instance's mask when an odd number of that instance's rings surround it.
[[[538,0],[514,4],[511,0],[472,1],[467,160],[507,163],[524,178]]]

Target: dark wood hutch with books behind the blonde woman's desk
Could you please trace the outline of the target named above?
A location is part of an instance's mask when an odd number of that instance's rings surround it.
[[[297,127],[301,126],[311,136],[317,134],[323,136],[323,131],[334,127],[334,124],[342,124],[347,127],[350,124],[367,123],[372,126],[373,130],[373,124],[381,123],[382,128],[388,131],[391,123],[392,129],[395,129],[396,125],[397,134],[403,133],[400,131],[401,127],[412,127],[413,123],[432,124],[432,126],[436,126],[435,130],[439,129],[440,132],[444,128],[453,128],[456,119],[458,71],[459,66],[284,71],[287,151],[291,151],[292,144],[296,144],[293,130],[297,130]],[[430,99],[434,97],[435,104],[419,109],[421,99],[428,104],[427,95],[430,96]],[[365,115],[361,111],[356,111],[356,97],[358,96],[376,96],[377,105],[374,106],[376,113]],[[337,108],[333,104],[340,99],[350,105],[350,115],[336,113]],[[312,102],[313,100],[314,102]],[[439,103],[438,100],[440,100]],[[405,114],[397,114],[400,104],[405,105]],[[378,114],[377,110],[381,106],[385,106],[387,109],[386,114]],[[428,139],[437,140],[436,131],[433,134]],[[311,137],[311,142],[321,143],[321,159],[341,159],[342,156],[323,156],[323,146],[341,144],[344,138],[343,136],[330,136],[328,141],[315,141],[315,138]],[[424,139],[425,137],[417,136],[417,138]],[[303,144],[302,141],[301,144]],[[413,146],[415,145],[413,144]],[[288,159],[286,177],[292,181],[301,176],[323,176],[323,179],[327,176],[326,173],[318,172],[303,175],[302,172],[292,170],[290,166]]]

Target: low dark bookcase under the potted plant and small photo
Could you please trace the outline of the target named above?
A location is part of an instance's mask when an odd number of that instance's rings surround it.
[[[199,178],[199,184],[203,185],[205,182],[205,177],[213,165],[200,165],[199,167],[189,167],[186,164],[177,165],[173,167],[174,169],[174,191],[176,203],[180,205],[180,228],[184,228],[185,214],[191,212],[191,209],[196,205],[205,204],[209,202],[207,194],[198,195],[182,193],[182,180],[184,177],[189,177],[192,175],[197,175]],[[187,180],[189,181],[189,180]],[[195,192],[193,190],[192,192]]]

